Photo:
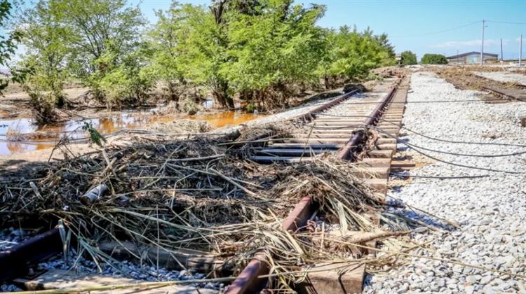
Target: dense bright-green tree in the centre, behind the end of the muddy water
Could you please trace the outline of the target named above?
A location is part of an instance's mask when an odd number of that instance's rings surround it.
[[[287,86],[313,82],[323,53],[323,30],[315,22],[323,6],[292,6],[292,1],[265,1],[262,13],[232,11],[229,55],[224,74],[243,99],[266,108],[287,103]]]

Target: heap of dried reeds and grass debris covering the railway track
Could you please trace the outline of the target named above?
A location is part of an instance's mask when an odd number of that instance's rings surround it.
[[[245,130],[238,142],[269,132],[284,135],[280,128]],[[353,176],[352,165],[328,155],[294,165],[258,165],[243,159],[245,144],[225,143],[145,140],[19,170],[0,178],[0,211],[6,216],[1,223],[58,218],[79,240],[78,250],[97,262],[108,260],[97,250],[101,240],[209,252],[226,260],[224,267],[234,274],[264,253],[283,287],[292,279],[288,273],[303,266],[355,256],[352,246],[319,248],[319,232],[283,230],[283,219],[303,197],[313,197],[318,216],[345,230],[382,232],[363,213],[383,202]],[[79,201],[101,183],[108,195],[91,205]]]

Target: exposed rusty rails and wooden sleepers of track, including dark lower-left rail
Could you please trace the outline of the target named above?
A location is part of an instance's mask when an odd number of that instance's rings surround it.
[[[301,126],[295,129],[291,138],[255,147],[250,159],[262,164],[299,162],[311,160],[321,153],[334,153],[337,158],[355,162],[359,167],[356,176],[385,197],[391,165],[397,165],[391,158],[396,151],[403,120],[407,87],[407,79],[392,78],[379,92],[358,94],[352,91],[332,99],[292,120],[291,123]],[[292,232],[299,230],[316,209],[316,202],[311,197],[305,197],[285,219],[283,228]],[[367,217],[379,220],[377,216]],[[61,251],[60,234],[54,228],[0,252],[1,265],[15,265],[0,269],[0,282],[27,275],[29,268]],[[227,288],[227,293],[257,293],[265,288],[268,281],[268,278],[259,276],[268,273],[269,266],[264,256],[256,255]],[[354,269],[351,277],[342,281],[340,286],[343,288],[340,290],[347,293],[361,291],[364,275],[365,266]],[[326,290],[325,287],[330,285],[325,278],[324,274],[311,275],[309,287],[315,288],[318,293]],[[337,276],[332,278],[338,279]],[[329,274],[329,279],[332,278]]]

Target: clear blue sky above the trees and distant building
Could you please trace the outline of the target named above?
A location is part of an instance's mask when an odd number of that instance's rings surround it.
[[[133,0],[144,15],[155,22],[154,9],[166,9],[170,0]],[[183,3],[208,5],[208,0],[183,0]],[[526,0],[297,0],[297,3],[324,4],[327,11],[318,23],[322,27],[356,25],[389,34],[396,52],[412,50],[418,57],[426,52],[454,55],[480,51],[482,20],[526,23]],[[477,23],[473,23],[477,22]],[[472,24],[472,25],[468,25]],[[467,25],[465,27],[462,27]],[[460,28],[459,28],[460,27]],[[454,29],[457,28],[457,29]],[[449,31],[444,31],[452,29]],[[429,34],[443,31],[437,34]],[[500,55],[503,39],[504,58],[518,57],[518,37],[522,34],[522,56],[526,56],[526,25],[487,22],[485,52]]]

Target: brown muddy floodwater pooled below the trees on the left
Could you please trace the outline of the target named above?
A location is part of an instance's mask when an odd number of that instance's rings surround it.
[[[0,117],[2,113],[0,113]],[[176,119],[206,120],[213,128],[227,125],[239,125],[254,120],[258,116],[240,111],[225,111],[221,113],[205,113],[197,116],[156,116],[151,111],[122,112],[109,118],[95,118],[90,120],[69,120],[59,125],[37,127],[29,118],[1,119],[0,118],[0,156],[24,153],[29,151],[53,148],[58,139],[67,136],[69,139],[86,137],[82,131],[85,122],[91,123],[101,134],[111,134],[120,130],[144,128],[151,123],[170,123]],[[15,137],[32,135],[39,132],[34,139],[19,139]]]

